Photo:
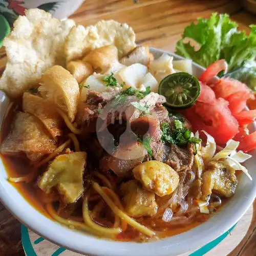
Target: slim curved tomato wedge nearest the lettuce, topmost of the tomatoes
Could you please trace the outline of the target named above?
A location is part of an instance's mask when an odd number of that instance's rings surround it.
[[[222,70],[227,71],[227,62],[225,59],[219,59],[212,63],[204,73],[199,77],[199,81],[207,84],[212,78],[217,76]]]

